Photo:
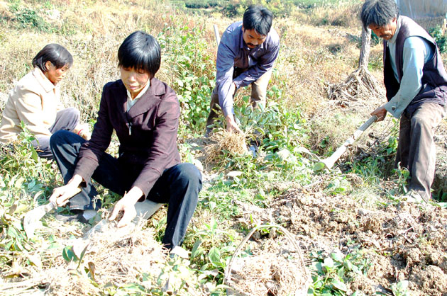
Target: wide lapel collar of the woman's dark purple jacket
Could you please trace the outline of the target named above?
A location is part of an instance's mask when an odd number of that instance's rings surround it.
[[[124,84],[122,85],[123,88],[126,90]],[[132,108],[128,110],[128,118],[134,118],[140,114],[146,113],[151,108],[157,106],[165,93],[165,85],[162,84],[160,80],[156,78],[150,79],[150,88],[143,94],[143,96],[141,96],[138,102],[136,102],[135,105],[133,105]],[[127,94],[125,98],[127,101]]]

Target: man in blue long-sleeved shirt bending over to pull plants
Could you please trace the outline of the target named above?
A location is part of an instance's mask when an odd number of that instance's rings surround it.
[[[280,51],[280,38],[271,28],[272,18],[267,8],[250,6],[243,14],[243,21],[231,24],[223,33],[217,50],[216,87],[211,95],[206,136],[217,117],[218,104],[226,120],[226,129],[241,132],[233,110],[233,96],[240,87],[251,84],[252,106],[265,106],[267,84]]]

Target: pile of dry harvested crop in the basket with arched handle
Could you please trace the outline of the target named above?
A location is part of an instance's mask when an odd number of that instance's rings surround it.
[[[255,229],[245,237],[226,269],[226,285],[232,288],[227,290],[228,295],[307,295],[310,276],[299,246],[286,229],[281,231],[286,237],[272,235],[270,239],[252,241],[252,255],[237,257]]]

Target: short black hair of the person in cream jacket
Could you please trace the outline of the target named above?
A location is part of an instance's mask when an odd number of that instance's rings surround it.
[[[33,67],[39,67],[42,72],[47,72],[45,63],[50,61],[55,65],[56,69],[60,69],[64,66],[72,67],[73,57],[72,54],[62,45],[50,43],[45,45],[40,52],[33,58]]]

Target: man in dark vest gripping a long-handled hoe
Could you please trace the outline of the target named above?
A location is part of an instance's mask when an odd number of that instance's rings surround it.
[[[399,16],[394,0],[367,0],[360,18],[384,40],[387,100],[374,110],[400,118],[396,166],[409,169],[409,200],[428,201],[435,171],[434,129],[446,115],[447,74],[433,38],[420,25]]]

